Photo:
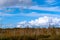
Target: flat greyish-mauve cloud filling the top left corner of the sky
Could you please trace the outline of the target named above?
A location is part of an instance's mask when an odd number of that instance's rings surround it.
[[[0,0],[0,7],[32,5],[32,0]]]

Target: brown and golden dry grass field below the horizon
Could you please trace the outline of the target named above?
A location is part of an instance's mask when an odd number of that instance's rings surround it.
[[[60,28],[0,29],[0,40],[60,40]]]

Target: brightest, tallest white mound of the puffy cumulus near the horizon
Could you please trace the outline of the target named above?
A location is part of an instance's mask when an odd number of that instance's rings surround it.
[[[29,23],[31,25],[39,26],[39,25],[45,25],[46,23],[48,23],[48,20],[49,20],[49,18],[47,16],[44,16],[44,17],[40,17],[36,20],[31,20]]]

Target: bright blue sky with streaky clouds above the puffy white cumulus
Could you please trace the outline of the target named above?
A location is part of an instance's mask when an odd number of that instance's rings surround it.
[[[16,25],[42,16],[60,18],[60,0],[0,0],[0,24]]]

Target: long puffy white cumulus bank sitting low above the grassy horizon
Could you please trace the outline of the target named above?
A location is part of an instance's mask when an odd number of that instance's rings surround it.
[[[49,24],[51,26],[57,25],[57,27],[59,25],[59,27],[60,27],[60,18],[43,16],[43,17],[39,17],[38,19],[31,20],[29,22],[26,22],[26,21],[19,22],[19,25],[17,25],[17,27],[22,27],[22,28],[25,28],[27,26],[29,26],[31,28],[49,27]],[[22,25],[24,25],[24,26],[22,26]]]

